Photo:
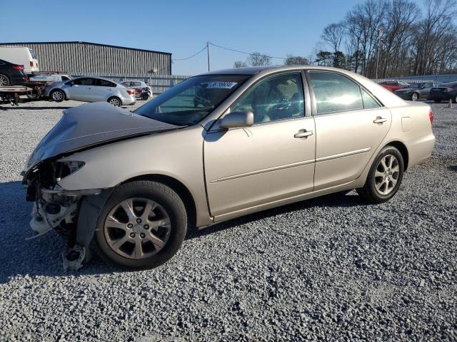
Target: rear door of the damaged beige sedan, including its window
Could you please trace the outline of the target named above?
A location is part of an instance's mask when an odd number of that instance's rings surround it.
[[[316,123],[314,190],[356,180],[391,126],[391,111],[348,76],[308,71]]]

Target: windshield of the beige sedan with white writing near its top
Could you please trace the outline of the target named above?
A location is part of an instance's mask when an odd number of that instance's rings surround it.
[[[195,76],[166,90],[134,113],[171,125],[189,126],[206,118],[250,76]]]

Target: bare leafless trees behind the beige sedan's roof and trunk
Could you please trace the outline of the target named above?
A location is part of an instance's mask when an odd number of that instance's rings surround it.
[[[456,0],[366,0],[328,24],[315,53],[287,56],[286,65],[334,66],[369,78],[457,73]],[[252,53],[235,67],[265,66]]]

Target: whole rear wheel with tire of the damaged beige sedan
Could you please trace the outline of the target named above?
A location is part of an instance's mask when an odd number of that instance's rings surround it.
[[[368,202],[387,202],[398,191],[404,173],[403,156],[393,146],[384,147],[371,165],[365,185],[358,195]]]

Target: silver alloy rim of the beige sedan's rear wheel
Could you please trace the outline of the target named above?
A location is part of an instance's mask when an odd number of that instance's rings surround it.
[[[400,165],[394,155],[385,155],[376,166],[374,184],[381,195],[390,194],[395,189],[400,175]]]

